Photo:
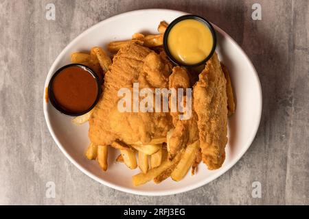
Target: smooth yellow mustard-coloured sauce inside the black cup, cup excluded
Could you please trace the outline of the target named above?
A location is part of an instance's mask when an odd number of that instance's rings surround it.
[[[195,19],[176,23],[168,34],[168,50],[183,64],[198,64],[211,53],[214,38],[210,29]]]

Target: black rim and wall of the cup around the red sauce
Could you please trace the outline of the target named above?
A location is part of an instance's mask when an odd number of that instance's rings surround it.
[[[97,98],[95,99],[95,102],[93,103],[93,105],[91,105],[91,107],[89,107],[88,110],[85,110],[84,112],[80,112],[80,113],[72,113],[69,112],[65,109],[63,109],[56,101],[55,96],[54,96],[54,92],[53,92],[53,83],[54,83],[54,79],[56,78],[56,76],[65,68],[69,68],[72,66],[78,66],[79,68],[84,68],[85,70],[87,70],[89,72],[89,74],[91,74],[94,78],[95,81],[97,83],[98,86],[98,94],[97,94]],[[59,68],[58,70],[56,70],[56,73],[54,73],[52,79],[50,79],[49,81],[49,85],[48,85],[48,98],[50,103],[52,103],[52,105],[56,108],[56,110],[58,110],[59,112],[61,112],[62,114],[65,114],[67,116],[81,116],[83,114],[87,114],[87,112],[89,112],[90,110],[93,109],[93,107],[95,107],[95,105],[98,103],[99,99],[100,99],[100,95],[101,95],[102,89],[101,89],[101,85],[100,85],[100,79],[98,77],[98,75],[88,66],[85,66],[83,64],[68,64],[66,66],[63,66],[62,68]]]

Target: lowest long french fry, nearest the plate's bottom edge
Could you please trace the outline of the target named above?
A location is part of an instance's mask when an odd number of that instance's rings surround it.
[[[172,161],[166,159],[165,162],[163,162],[160,166],[158,166],[157,168],[153,168],[153,169],[148,170],[148,172],[146,174],[141,172],[137,175],[134,175],[132,177],[133,185],[134,186],[143,185],[144,183],[151,181],[152,179],[154,179],[155,177],[160,175],[161,172],[170,168],[176,162],[179,162],[180,157],[181,157],[181,153],[176,155],[176,157],[174,157],[174,159],[172,159]]]

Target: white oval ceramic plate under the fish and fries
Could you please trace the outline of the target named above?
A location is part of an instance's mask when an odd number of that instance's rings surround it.
[[[94,25],[80,34],[58,55],[49,70],[45,87],[58,68],[69,64],[72,52],[89,51],[94,46],[105,48],[112,40],[130,39],[132,34],[140,31],[155,34],[160,21],[170,23],[183,14],[186,13],[173,10],[138,10],[113,16]],[[89,161],[84,157],[89,144],[89,125],[73,125],[70,117],[58,113],[52,105],[44,101],[48,129],[62,153],[92,179],[116,190],[140,195],[158,196],[186,192],[209,183],[229,170],[247,151],[258,131],[262,112],[262,90],[258,74],[244,51],[222,29],[215,25],[214,27],[218,33],[216,51],[220,60],[231,72],[236,95],[236,114],[229,120],[229,142],[222,168],[210,171],[205,164],[200,164],[196,175],[191,176],[189,173],[178,183],[167,179],[159,185],[150,182],[134,187],[131,177],[139,172],[138,169],[128,170],[124,164],[116,163],[115,158],[118,153],[112,151],[108,154],[108,171],[102,172],[97,162]]]

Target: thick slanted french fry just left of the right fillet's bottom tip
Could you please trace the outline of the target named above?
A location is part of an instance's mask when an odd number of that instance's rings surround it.
[[[179,164],[176,166],[175,170],[172,172],[171,177],[174,181],[181,181],[183,177],[187,174],[187,171],[192,166],[196,152],[200,147],[200,141],[197,140],[193,144],[189,144],[183,153]]]

